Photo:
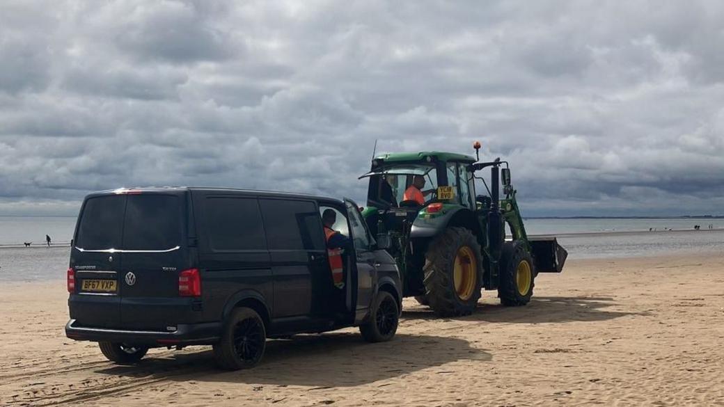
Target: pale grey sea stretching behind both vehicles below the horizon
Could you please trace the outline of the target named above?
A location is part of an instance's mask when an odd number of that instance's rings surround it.
[[[525,225],[529,235],[556,235],[569,259],[724,251],[724,219],[526,219]],[[74,229],[75,217],[0,217],[0,281],[63,280]],[[46,234],[57,246],[44,246]]]

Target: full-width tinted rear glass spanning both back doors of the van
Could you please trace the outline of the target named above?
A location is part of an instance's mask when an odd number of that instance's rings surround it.
[[[167,250],[180,245],[176,196],[110,195],[85,202],[75,246],[84,250]]]

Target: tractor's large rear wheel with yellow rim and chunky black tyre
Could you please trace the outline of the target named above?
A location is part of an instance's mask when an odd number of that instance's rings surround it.
[[[448,227],[430,243],[423,272],[425,296],[437,316],[475,311],[483,273],[481,249],[473,232]]]

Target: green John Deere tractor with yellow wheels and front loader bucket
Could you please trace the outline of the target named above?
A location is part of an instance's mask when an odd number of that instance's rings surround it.
[[[360,177],[369,178],[363,216],[396,259],[403,294],[439,316],[471,314],[483,288],[497,290],[505,306],[525,305],[536,275],[561,272],[568,256],[555,238],[526,235],[508,162],[479,162],[480,143],[473,146],[476,157],[376,156],[370,172]],[[478,175],[486,168],[489,184]],[[475,180],[487,194],[476,195]]]

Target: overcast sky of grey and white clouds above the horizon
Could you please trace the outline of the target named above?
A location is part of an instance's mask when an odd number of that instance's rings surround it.
[[[481,140],[528,216],[724,214],[723,47],[720,0],[4,0],[0,214],[132,185],[364,201],[375,139]]]

